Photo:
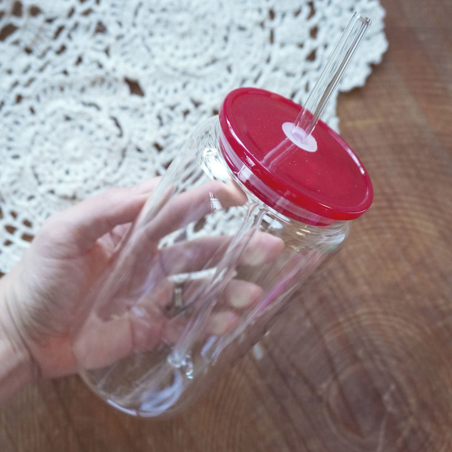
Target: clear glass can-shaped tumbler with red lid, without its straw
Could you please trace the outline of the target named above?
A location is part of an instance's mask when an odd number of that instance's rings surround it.
[[[339,135],[319,122],[315,143],[298,146],[300,110],[261,89],[228,94],[80,306],[80,374],[119,410],[170,414],[205,391],[370,206],[367,172]]]

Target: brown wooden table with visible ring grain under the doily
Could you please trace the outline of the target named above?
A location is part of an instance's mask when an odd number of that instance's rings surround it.
[[[452,2],[382,3],[389,50],[339,97],[373,207],[261,353],[165,421],[78,377],[29,386],[0,412],[2,452],[452,450]]]

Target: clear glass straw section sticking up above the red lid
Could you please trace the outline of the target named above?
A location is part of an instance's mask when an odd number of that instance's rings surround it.
[[[293,134],[296,133],[297,127],[300,127],[306,132],[306,137],[311,135],[371,22],[367,17],[358,13],[353,14],[319,80],[306,100],[303,110],[294,122]]]

